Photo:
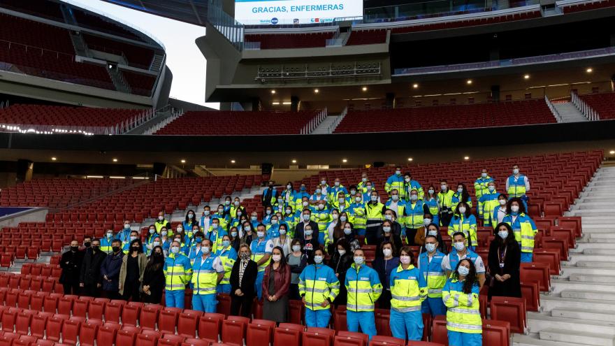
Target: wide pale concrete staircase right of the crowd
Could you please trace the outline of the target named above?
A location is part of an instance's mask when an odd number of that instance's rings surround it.
[[[566,216],[583,217],[583,236],[541,294],[541,312],[528,312],[530,334],[514,346],[615,345],[615,166],[605,163]]]

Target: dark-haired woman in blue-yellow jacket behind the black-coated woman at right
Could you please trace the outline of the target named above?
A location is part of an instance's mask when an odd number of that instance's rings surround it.
[[[509,224],[514,231],[514,238],[521,248],[521,262],[532,261],[534,252],[534,237],[538,233],[534,220],[526,214],[526,206],[519,198],[509,199],[506,216],[502,222]]]

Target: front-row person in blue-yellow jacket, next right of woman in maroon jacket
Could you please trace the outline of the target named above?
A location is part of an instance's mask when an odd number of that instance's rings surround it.
[[[331,319],[329,305],[340,294],[340,280],[333,269],[324,265],[324,252],[314,252],[314,264],[299,275],[299,294],[305,305],[305,325],[326,328]]]

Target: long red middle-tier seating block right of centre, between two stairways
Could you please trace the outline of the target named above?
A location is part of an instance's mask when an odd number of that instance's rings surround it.
[[[470,129],[554,123],[542,99],[469,105],[349,111],[336,134],[350,132]]]

